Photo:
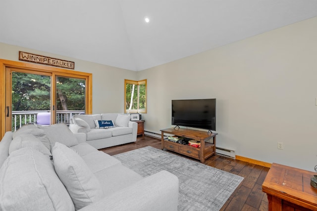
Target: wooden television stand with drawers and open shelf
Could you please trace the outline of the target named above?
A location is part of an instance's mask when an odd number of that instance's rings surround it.
[[[161,148],[167,149],[197,160],[201,163],[205,163],[205,160],[216,153],[216,135],[218,133],[210,133],[209,131],[201,131],[187,128],[171,127],[167,129],[161,129]],[[164,133],[177,135],[180,137],[199,140],[201,142],[200,148],[196,148],[189,145],[183,145],[172,141],[164,140]],[[206,142],[212,139],[212,143]]]

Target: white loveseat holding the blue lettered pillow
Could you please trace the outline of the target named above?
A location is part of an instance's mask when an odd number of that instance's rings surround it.
[[[119,113],[78,114],[73,116],[69,128],[73,133],[85,133],[87,143],[102,149],[137,140],[138,124],[130,119],[130,115]],[[112,121],[114,127],[96,128],[95,120]]]

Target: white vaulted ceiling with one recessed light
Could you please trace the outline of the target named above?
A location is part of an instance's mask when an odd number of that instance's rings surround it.
[[[317,16],[317,0],[0,0],[0,8],[0,42],[133,71]]]

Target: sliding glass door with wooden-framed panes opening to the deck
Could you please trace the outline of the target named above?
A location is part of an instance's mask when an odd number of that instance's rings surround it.
[[[69,124],[73,115],[89,113],[87,84],[91,84],[91,74],[6,67],[5,131],[27,124]]]

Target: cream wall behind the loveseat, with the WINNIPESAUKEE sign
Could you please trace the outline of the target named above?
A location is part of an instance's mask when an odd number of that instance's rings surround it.
[[[75,71],[93,74],[93,113],[124,112],[124,79],[136,80],[130,70],[87,62],[0,42],[0,59],[18,61],[19,50],[75,62]]]

